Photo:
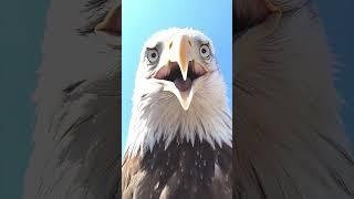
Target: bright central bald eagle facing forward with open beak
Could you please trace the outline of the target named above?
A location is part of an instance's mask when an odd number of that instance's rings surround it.
[[[231,198],[231,121],[211,40],[155,33],[136,72],[122,198]]]

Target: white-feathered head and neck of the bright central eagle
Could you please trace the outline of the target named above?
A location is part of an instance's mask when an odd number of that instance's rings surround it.
[[[209,38],[171,28],[144,44],[136,72],[128,150],[175,139],[231,143],[226,85]]]

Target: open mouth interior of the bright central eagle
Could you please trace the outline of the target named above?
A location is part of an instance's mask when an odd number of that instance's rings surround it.
[[[175,83],[179,92],[186,92],[191,88],[192,82],[207,73],[206,69],[196,64],[194,61],[188,63],[187,78],[184,80],[180,67],[177,62],[170,62],[168,65],[159,69],[154,78],[165,80]]]

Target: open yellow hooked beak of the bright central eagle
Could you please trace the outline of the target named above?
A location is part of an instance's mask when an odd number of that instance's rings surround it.
[[[154,74],[155,78],[163,81],[164,91],[169,91],[177,96],[185,111],[189,108],[192,96],[200,84],[200,82],[194,81],[194,77],[202,76],[208,72],[204,64],[197,62],[198,57],[196,57],[192,48],[189,35],[179,34],[171,38],[166,43],[167,53],[162,56],[162,64]],[[170,74],[176,70],[180,71],[181,78],[173,77],[170,80]],[[191,74],[188,75],[188,72]]]

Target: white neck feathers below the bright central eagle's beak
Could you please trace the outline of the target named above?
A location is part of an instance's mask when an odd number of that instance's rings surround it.
[[[219,71],[211,73],[198,90],[188,111],[184,111],[169,92],[143,95],[137,91],[126,148],[129,156],[136,156],[138,151],[144,156],[160,143],[166,149],[176,140],[195,145],[199,139],[212,148],[232,146],[232,118]]]

